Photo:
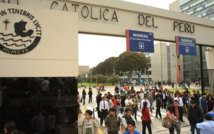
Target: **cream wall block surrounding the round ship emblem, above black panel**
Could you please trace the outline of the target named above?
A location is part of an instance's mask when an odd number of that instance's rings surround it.
[[[7,4],[0,4],[0,7],[1,11],[7,11],[8,8],[28,11],[35,16],[34,20],[38,20],[42,29],[41,40],[32,51],[20,55],[0,51],[0,77],[78,76],[78,16],[76,13],[30,9]],[[34,33],[36,32],[32,21],[24,15],[7,13],[0,17],[0,22],[6,18],[11,23],[8,24],[7,30],[0,27],[0,33],[15,35],[13,25],[20,20],[27,21],[26,30],[33,29]],[[13,49],[19,49],[19,47],[13,46]]]

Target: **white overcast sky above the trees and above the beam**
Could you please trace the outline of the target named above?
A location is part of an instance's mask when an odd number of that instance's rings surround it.
[[[175,0],[123,0],[168,10]],[[126,51],[123,37],[79,34],[79,65],[95,67],[109,57],[117,57]],[[112,49],[114,48],[114,49]]]

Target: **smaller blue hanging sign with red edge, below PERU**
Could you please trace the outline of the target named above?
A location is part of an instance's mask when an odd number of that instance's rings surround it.
[[[196,55],[196,40],[194,38],[176,36],[177,55]]]

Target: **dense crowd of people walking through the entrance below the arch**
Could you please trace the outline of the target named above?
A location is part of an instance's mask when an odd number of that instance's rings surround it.
[[[82,98],[85,95],[84,89]],[[136,91],[133,86],[131,88],[116,86],[114,95],[110,92],[102,94],[98,91],[96,103],[100,124],[91,118],[93,112],[87,110],[83,121],[78,121],[78,130],[81,130],[79,134],[96,134],[100,126],[105,127],[108,134],[118,134],[119,130],[122,134],[139,134],[140,132],[135,128],[136,121],[141,120],[142,134],[146,134],[146,129],[149,134],[152,134],[151,113],[154,112],[154,107],[156,107],[156,118],[160,118],[162,124],[169,124],[166,128],[169,129],[170,134],[174,134],[175,131],[177,134],[181,133],[183,116],[186,116],[190,123],[191,134],[195,131],[197,134],[214,133],[214,121],[211,116],[214,112],[214,98],[211,94],[200,93],[198,90],[190,93],[188,89],[180,92],[179,90],[169,91],[162,87],[159,89],[145,87],[145,90]],[[166,110],[165,117],[162,117],[161,109]],[[137,119],[139,110],[142,114],[141,120]],[[84,120],[86,123],[83,123]]]

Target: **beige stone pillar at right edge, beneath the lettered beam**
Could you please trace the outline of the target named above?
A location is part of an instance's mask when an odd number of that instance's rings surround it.
[[[207,69],[209,75],[209,84],[212,95],[214,95],[214,47],[207,47],[205,50],[206,60],[207,60]]]

